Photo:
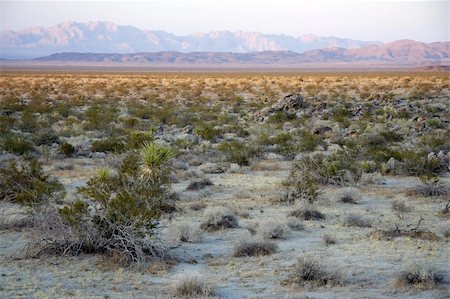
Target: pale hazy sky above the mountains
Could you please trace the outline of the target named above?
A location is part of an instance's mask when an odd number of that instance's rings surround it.
[[[0,30],[112,21],[175,34],[244,30],[389,42],[450,40],[450,0],[5,1]]]

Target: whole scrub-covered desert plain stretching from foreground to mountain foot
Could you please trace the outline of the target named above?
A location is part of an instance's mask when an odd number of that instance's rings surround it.
[[[438,72],[3,72],[0,297],[446,298],[449,94]]]

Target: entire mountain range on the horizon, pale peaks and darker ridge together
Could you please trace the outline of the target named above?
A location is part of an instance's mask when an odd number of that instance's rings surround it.
[[[215,31],[177,36],[111,22],[0,32],[0,60],[145,65],[450,65],[450,42],[383,44],[337,37]]]

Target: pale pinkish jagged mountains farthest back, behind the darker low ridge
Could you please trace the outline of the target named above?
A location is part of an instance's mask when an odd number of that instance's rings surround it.
[[[58,52],[129,54],[137,52],[233,52],[293,51],[381,45],[305,34],[293,37],[259,32],[213,31],[177,36],[165,31],[141,30],[111,22],[64,22],[53,27],[32,27],[0,32],[0,57],[30,59]]]

